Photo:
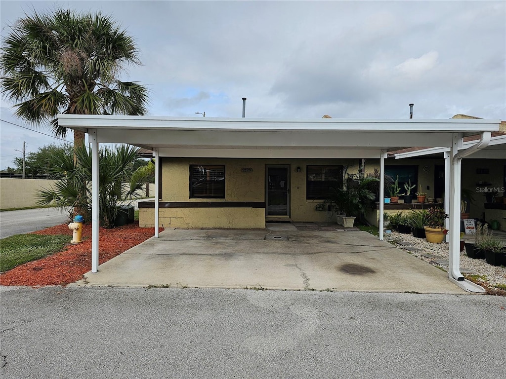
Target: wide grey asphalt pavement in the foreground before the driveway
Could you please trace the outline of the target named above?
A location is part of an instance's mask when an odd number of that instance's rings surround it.
[[[506,377],[506,298],[1,288],[1,377]]]

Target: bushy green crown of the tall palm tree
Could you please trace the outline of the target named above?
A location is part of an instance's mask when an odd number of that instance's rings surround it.
[[[125,66],[140,64],[134,39],[100,12],[35,12],[10,30],[2,45],[0,82],[7,98],[19,102],[19,118],[49,121],[56,136],[65,136],[55,119],[59,113],[146,113],[147,89],[117,80]],[[75,130],[74,149],[83,144],[84,132]]]

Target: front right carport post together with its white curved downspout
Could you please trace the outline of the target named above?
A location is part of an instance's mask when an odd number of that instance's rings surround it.
[[[450,181],[450,247],[449,247],[449,270],[448,277],[457,280],[457,282],[466,282],[468,286],[461,286],[462,288],[475,292],[482,292],[483,288],[480,286],[472,286],[474,283],[465,280],[460,273],[460,170],[462,158],[470,156],[477,151],[484,149],[490,143],[491,132],[484,131],[481,133],[481,139],[472,147],[458,151],[459,146],[462,144],[462,135],[459,133],[453,134],[453,141],[450,150],[451,159],[451,181]],[[479,287],[481,290],[476,289]],[[484,291],[484,290],[483,290]]]

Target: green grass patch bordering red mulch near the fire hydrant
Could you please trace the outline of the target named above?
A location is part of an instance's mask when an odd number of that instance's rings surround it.
[[[61,251],[70,240],[68,234],[17,234],[4,238],[0,242],[0,272]]]

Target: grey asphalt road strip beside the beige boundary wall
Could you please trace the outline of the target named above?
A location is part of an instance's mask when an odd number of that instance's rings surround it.
[[[24,234],[69,222],[68,213],[58,208],[22,209],[0,212],[0,238]]]

